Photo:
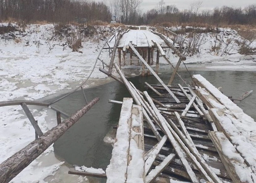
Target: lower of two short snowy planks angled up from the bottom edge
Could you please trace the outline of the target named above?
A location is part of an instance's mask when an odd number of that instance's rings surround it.
[[[160,173],[169,165],[174,159],[175,154],[168,155],[155,169],[151,170],[146,177],[146,183],[153,183]]]

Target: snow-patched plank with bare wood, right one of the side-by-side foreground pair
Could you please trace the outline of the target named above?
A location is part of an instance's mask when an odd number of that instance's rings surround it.
[[[133,105],[126,183],[145,182],[142,106]]]

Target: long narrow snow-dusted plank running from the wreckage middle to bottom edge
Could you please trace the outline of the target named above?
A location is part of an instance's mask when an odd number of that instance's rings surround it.
[[[163,118],[163,116],[160,114],[160,112],[158,111],[158,109],[156,108],[156,106],[154,105],[153,101],[151,100],[150,96],[148,95],[148,93],[145,91],[144,92],[149,104],[152,106],[153,110],[155,111],[159,122],[161,123],[161,126],[163,128],[162,131],[164,131],[169,139],[169,141],[171,142],[172,146],[174,147],[177,155],[180,157],[180,160],[184,166],[184,168],[187,170],[190,179],[192,180],[192,182],[196,182],[198,183],[198,179],[196,177],[196,175],[194,174],[192,168],[190,167],[186,157],[185,157],[185,152],[181,149],[181,147],[179,146],[178,142],[175,140],[174,136],[172,135],[170,129],[167,127],[166,123],[165,123],[165,118]]]

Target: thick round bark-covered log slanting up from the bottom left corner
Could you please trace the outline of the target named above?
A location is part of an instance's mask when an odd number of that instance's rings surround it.
[[[96,97],[89,104],[76,111],[70,118],[46,132],[22,150],[16,152],[0,164],[0,183],[8,183],[42,152],[44,152],[52,143],[62,136],[73,124],[75,124],[91,107],[99,101]]]

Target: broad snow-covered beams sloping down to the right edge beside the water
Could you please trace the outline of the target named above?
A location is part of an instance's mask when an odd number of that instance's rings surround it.
[[[200,81],[197,81],[196,78],[199,78]],[[219,90],[212,86],[211,83],[206,82],[201,76],[197,75],[196,78],[194,77],[194,81],[197,82],[196,84],[198,82],[204,83],[208,90],[211,90],[211,93],[215,93],[219,98],[217,100],[205,88],[198,88],[196,90],[199,98],[210,107],[209,114],[214,120],[217,129],[223,132],[230,142],[235,145],[236,150],[246,160],[246,163],[250,165],[253,172],[256,172],[256,123],[250,116],[244,114],[237,105],[231,104],[232,101],[229,102],[228,97],[221,92],[219,93]],[[229,109],[220,101],[229,106]]]

